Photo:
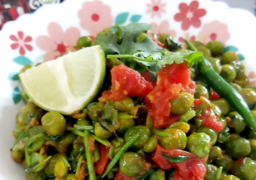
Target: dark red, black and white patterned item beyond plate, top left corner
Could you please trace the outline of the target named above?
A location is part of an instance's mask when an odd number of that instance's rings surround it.
[[[18,16],[33,12],[46,4],[60,3],[64,0],[0,0],[0,29],[10,20],[16,20]]]

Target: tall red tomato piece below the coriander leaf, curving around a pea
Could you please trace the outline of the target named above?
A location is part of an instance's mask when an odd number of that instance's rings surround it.
[[[157,75],[154,90],[144,99],[154,127],[163,128],[179,119],[179,116],[170,112],[170,100],[176,98],[181,91],[194,94],[195,84],[190,80],[190,70],[186,62],[162,67]]]

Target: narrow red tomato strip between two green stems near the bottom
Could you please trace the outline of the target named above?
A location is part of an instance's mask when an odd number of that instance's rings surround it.
[[[103,144],[98,144],[98,149],[100,153],[100,159],[94,163],[95,172],[101,175],[108,163],[108,152],[109,148]]]

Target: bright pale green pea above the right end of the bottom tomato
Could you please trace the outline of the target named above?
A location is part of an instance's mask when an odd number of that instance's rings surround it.
[[[198,157],[202,158],[210,152],[211,138],[203,132],[195,132],[188,136],[186,147]]]

